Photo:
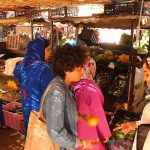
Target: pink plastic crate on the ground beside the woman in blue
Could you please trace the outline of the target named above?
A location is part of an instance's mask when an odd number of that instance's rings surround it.
[[[4,123],[5,125],[21,131],[23,130],[23,116],[22,114],[10,112],[14,110],[16,107],[22,107],[22,104],[19,102],[11,102],[7,105],[3,106],[3,115],[4,115]]]

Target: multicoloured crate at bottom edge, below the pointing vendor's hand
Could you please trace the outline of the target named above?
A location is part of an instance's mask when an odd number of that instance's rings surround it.
[[[132,142],[131,141],[121,141],[111,139],[108,142],[108,150],[131,150]]]

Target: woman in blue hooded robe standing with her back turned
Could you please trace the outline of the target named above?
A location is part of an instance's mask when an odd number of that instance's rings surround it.
[[[53,71],[46,62],[49,57],[48,41],[44,38],[36,38],[28,43],[23,61],[14,69],[14,76],[22,87],[25,137],[30,111],[39,111],[42,94],[54,78]]]

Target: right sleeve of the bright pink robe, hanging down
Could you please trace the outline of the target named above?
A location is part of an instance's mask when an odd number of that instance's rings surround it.
[[[106,115],[104,112],[103,108],[103,95],[100,92],[97,93],[92,93],[91,94],[91,111],[92,114],[97,116],[99,119],[98,125],[97,125],[97,130],[99,133],[99,136],[104,139],[105,137],[110,137],[111,136],[111,131],[106,119]]]

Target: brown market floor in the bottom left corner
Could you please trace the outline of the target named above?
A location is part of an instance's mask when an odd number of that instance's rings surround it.
[[[0,128],[0,150],[23,150],[22,134],[11,128]]]

